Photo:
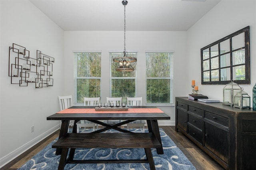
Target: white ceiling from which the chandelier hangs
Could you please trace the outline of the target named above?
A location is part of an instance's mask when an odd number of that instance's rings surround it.
[[[64,31],[123,31],[122,0],[30,0]],[[220,0],[128,0],[126,31],[186,31]]]

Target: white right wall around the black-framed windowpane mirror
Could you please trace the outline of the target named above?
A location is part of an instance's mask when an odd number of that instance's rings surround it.
[[[256,83],[256,1],[221,1],[187,31],[188,85],[196,80],[200,94],[222,101],[225,85],[201,85],[200,49],[246,26],[250,26],[250,85],[240,85],[252,97]],[[252,107],[252,99],[251,99]]]

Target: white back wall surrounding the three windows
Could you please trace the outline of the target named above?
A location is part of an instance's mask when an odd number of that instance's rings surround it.
[[[79,31],[65,32],[65,91],[74,95],[72,51],[101,51],[102,52],[102,102],[106,102],[109,93],[109,51],[124,49],[124,32]],[[174,51],[174,96],[186,96],[183,89],[186,81],[186,32],[126,32],[126,51],[138,52],[138,97],[142,96],[145,105],[145,51]],[[175,100],[175,99],[174,99]],[[163,109],[171,116],[170,121],[159,124],[175,125],[175,110],[173,107]]]

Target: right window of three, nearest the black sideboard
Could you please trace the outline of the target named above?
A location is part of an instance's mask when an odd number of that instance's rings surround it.
[[[173,103],[173,53],[146,52],[146,103]]]

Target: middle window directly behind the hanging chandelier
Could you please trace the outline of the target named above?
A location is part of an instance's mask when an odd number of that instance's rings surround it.
[[[137,96],[137,66],[134,71],[116,71],[113,58],[123,56],[123,53],[111,52],[110,55],[110,97],[122,97],[127,103],[127,97]],[[137,57],[137,53],[128,53],[127,56]]]

